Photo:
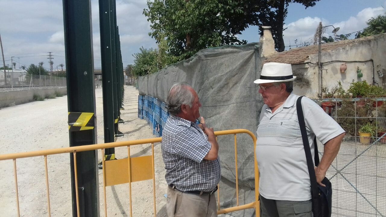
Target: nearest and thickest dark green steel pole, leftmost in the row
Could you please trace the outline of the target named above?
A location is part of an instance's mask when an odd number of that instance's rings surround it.
[[[66,55],[68,112],[93,113],[95,117],[94,63],[90,0],[63,0],[64,47]],[[69,116],[70,119],[70,116]],[[97,143],[97,126],[69,131],[69,146]],[[70,122],[69,122],[70,123]],[[99,216],[97,151],[76,154],[80,213]],[[78,216],[74,158],[70,154],[73,217]],[[78,216],[79,217],[79,216]]]

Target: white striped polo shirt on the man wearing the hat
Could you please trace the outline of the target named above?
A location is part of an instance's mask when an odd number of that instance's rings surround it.
[[[296,113],[298,97],[291,93],[274,114],[267,105],[261,110],[256,158],[260,171],[259,192],[267,199],[311,199],[310,175]],[[306,97],[301,101],[313,158],[315,135],[325,144],[345,131],[317,103]]]

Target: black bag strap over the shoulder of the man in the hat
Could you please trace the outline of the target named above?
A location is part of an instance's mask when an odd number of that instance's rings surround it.
[[[310,142],[308,142],[308,136],[306,131],[306,124],[304,121],[303,108],[301,107],[301,96],[296,101],[296,112],[298,113],[298,121],[300,125],[301,137],[303,139],[304,151],[306,154],[308,173],[310,173],[310,181],[311,181],[311,195],[312,198],[317,198],[319,196],[318,183],[315,176],[315,169],[312,162],[312,154],[310,149]],[[316,143],[316,136],[314,137],[314,145],[315,145],[315,165],[319,164],[319,156],[318,156],[318,147]]]

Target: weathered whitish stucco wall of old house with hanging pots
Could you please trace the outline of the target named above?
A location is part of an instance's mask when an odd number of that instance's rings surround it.
[[[322,51],[322,83],[323,86],[335,86],[340,81],[345,90],[349,88],[350,83],[355,81],[364,81],[386,88],[386,34],[380,34],[367,38],[368,40],[353,40],[353,43],[337,47],[331,51]],[[309,57],[310,63],[293,65],[294,73],[305,73],[304,76],[310,81],[310,86],[301,86],[301,83],[295,83],[295,91],[298,94],[306,95],[312,98],[318,98],[320,93],[320,80],[318,76],[318,54],[312,54]],[[340,65],[345,62],[347,66],[346,73],[340,73]],[[374,63],[374,68],[373,68]],[[357,67],[362,70],[363,77],[358,78]],[[378,72],[383,73],[379,77]]]

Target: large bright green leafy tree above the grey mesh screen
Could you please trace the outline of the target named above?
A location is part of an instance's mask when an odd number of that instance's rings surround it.
[[[224,2],[226,4],[224,4]],[[236,22],[243,16],[240,5],[244,0],[154,0],[148,1],[144,15],[151,22],[152,32],[159,43],[166,38],[168,52],[186,59],[198,50],[223,44],[245,44],[236,37],[247,23]],[[249,1],[248,1],[249,2]],[[164,37],[163,37],[164,36]]]

